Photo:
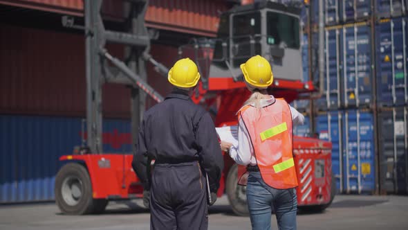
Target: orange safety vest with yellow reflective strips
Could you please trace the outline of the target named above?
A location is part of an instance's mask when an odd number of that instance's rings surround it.
[[[263,182],[277,189],[295,188],[292,114],[288,103],[277,98],[272,105],[260,109],[246,105],[239,110],[238,116],[250,135]],[[239,184],[246,184],[246,178],[242,177],[244,167],[238,170]]]

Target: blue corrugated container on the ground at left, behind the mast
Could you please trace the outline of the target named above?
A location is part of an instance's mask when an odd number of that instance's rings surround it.
[[[54,199],[58,159],[82,142],[82,118],[0,116],[0,203]],[[130,122],[104,121],[104,152],[131,152]]]

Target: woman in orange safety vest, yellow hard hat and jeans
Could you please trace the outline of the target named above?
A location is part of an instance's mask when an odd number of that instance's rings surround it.
[[[273,73],[256,55],[241,64],[250,98],[239,109],[238,144],[221,141],[238,164],[247,166],[247,200],[252,229],[270,229],[271,213],[279,230],[296,229],[297,177],[293,161],[293,123],[304,116],[284,99],[268,95]]]

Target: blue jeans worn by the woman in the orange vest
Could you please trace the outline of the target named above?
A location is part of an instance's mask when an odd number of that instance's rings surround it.
[[[296,229],[296,189],[271,188],[260,172],[250,172],[246,190],[251,225],[254,230],[271,229],[271,213],[275,212],[279,230]]]

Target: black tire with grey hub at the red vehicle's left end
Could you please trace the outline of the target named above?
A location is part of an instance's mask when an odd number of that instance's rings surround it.
[[[108,204],[108,200],[92,198],[88,170],[79,163],[67,163],[57,173],[55,202],[59,210],[68,215],[101,213]]]

